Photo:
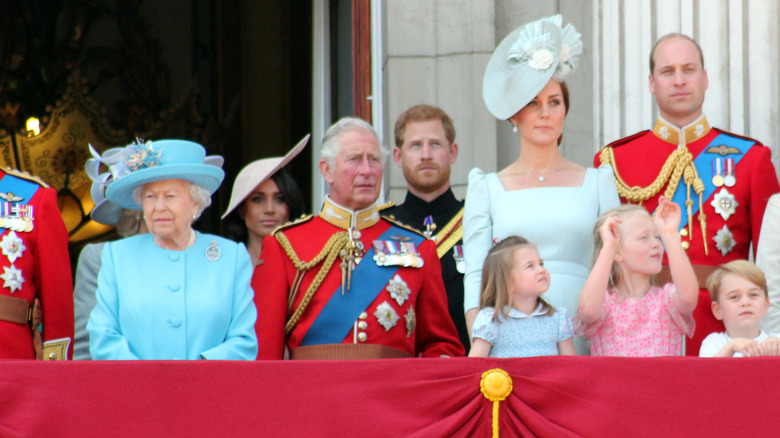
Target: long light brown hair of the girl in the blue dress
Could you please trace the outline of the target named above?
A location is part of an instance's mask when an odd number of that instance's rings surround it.
[[[514,267],[515,251],[523,247],[536,249],[536,245],[520,236],[509,236],[498,242],[488,251],[485,262],[482,265],[482,294],[480,296],[480,309],[493,307],[493,321],[498,321],[498,315],[504,318],[508,315],[504,307],[512,307],[512,268]],[[548,304],[542,297],[537,298],[542,305],[545,315],[552,316],[555,308]]]

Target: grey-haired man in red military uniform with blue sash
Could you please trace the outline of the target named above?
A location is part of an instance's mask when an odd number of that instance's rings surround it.
[[[447,312],[436,245],[381,217],[384,166],[371,125],[353,118],[325,134],[320,214],[263,242],[252,287],[259,359],[462,356]]]

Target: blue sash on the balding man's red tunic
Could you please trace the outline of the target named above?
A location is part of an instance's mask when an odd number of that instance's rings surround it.
[[[745,140],[742,138],[732,137],[730,135],[726,134],[720,134],[717,137],[713,138],[710,144],[704,147],[701,153],[693,160],[693,165],[696,166],[696,171],[699,173],[699,178],[701,178],[702,182],[704,183],[704,192],[701,194],[702,196],[702,204],[705,200],[709,199],[710,196],[712,196],[713,193],[715,193],[715,190],[717,190],[717,187],[715,187],[714,184],[712,184],[712,177],[714,176],[712,174],[712,152],[706,152],[707,149],[713,147],[713,146],[720,146],[725,145],[728,147],[733,147],[738,149],[741,154],[735,154],[733,157],[734,159],[734,171],[736,172],[737,163],[742,159],[742,157],[747,154],[747,151],[756,144],[754,141]],[[718,154],[720,155],[720,154]],[[688,189],[683,183],[683,181],[680,181],[680,184],[677,185],[677,190],[674,192],[674,196],[672,196],[672,202],[680,206],[680,209],[682,210],[682,217],[680,218],[680,229],[682,230],[688,225],[688,214],[686,213],[687,207],[685,206],[685,201],[688,199],[687,195]],[[695,216],[699,212],[699,202],[696,199],[696,193],[691,190],[691,201],[693,201],[692,216]]]

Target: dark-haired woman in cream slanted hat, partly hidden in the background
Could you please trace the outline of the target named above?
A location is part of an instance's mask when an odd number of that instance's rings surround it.
[[[233,192],[222,219],[238,207],[242,231],[246,230],[247,250],[256,265],[263,249],[263,239],[279,225],[295,219],[304,211],[303,194],[289,172],[284,169],[309,142],[304,137],[284,157],[264,158],[241,169],[233,183]],[[243,234],[243,233],[242,233]]]

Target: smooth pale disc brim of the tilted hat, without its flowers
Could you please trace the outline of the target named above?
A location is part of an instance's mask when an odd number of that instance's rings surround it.
[[[535,50],[520,55],[529,43],[529,34],[541,37],[544,43],[537,43]],[[497,119],[507,120],[533,100],[555,74],[561,45],[561,29],[545,19],[528,23],[507,35],[490,57],[482,81],[482,99],[488,111]],[[535,57],[528,55],[543,51],[548,52],[543,57],[548,58],[544,61],[549,65],[539,68]]]

